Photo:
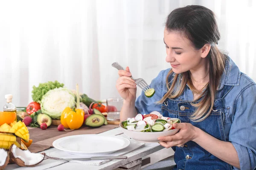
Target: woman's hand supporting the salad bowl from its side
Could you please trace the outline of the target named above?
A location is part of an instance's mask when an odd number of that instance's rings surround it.
[[[198,127],[193,126],[190,123],[175,123],[173,124],[175,129],[180,129],[178,133],[172,136],[160,136],[158,140],[163,147],[169,148],[173,146],[180,147],[188,141],[192,141],[196,137],[196,131]]]

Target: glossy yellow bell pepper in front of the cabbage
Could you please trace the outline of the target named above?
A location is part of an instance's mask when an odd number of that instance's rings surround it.
[[[84,110],[65,108],[61,113],[61,124],[65,128],[79,129],[84,122]]]

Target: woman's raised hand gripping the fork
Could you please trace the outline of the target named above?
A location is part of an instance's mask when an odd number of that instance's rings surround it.
[[[124,70],[119,70],[119,78],[116,81],[116,88],[120,96],[126,101],[135,101],[136,99],[136,83],[131,79],[129,67]]]

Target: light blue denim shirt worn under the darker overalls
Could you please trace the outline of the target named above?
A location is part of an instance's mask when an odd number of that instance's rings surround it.
[[[253,170],[256,168],[256,84],[239,71],[232,59],[228,57],[228,60],[218,87],[218,91],[221,91],[224,85],[233,86],[223,98],[224,135],[226,141],[231,142],[238,153],[241,170]],[[135,107],[138,113],[148,114],[152,111],[161,113],[161,105],[155,102],[162,99],[167,92],[166,77],[169,71],[170,68],[160,71],[152,80],[150,87],[156,91],[153,97],[147,98],[142,92],[136,99]],[[188,86],[179,99],[193,100],[192,91]],[[237,170],[236,167],[233,169]]]

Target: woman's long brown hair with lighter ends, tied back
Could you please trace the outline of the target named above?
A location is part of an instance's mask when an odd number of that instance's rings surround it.
[[[215,20],[215,14],[204,6],[186,6],[177,8],[172,11],[166,20],[167,31],[180,31],[192,42],[195,49],[201,49],[205,44],[210,44],[211,48],[207,55],[209,59],[209,82],[199,92],[200,102],[194,102],[197,109],[192,114],[191,120],[200,122],[209,116],[212,111],[215,99],[215,93],[224,72],[226,55],[222,54],[217,48],[220,33]],[[159,101],[163,103],[167,98],[173,99],[180,96],[186,84],[192,91],[195,91],[193,86],[190,71],[181,74],[175,74],[172,84],[168,81],[168,77],[173,74],[172,69],[166,78],[168,92]],[[175,88],[177,87],[177,88]]]

